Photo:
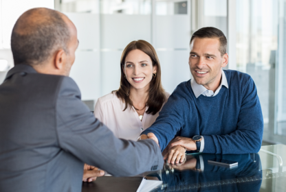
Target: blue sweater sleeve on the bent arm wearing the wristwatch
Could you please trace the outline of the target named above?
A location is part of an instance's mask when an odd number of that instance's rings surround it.
[[[250,77],[243,89],[236,130],[225,135],[203,135],[203,153],[248,154],[257,153],[263,137],[263,116],[256,86]]]

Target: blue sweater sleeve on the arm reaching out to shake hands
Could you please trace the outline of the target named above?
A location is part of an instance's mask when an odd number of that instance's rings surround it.
[[[142,134],[148,134],[149,132],[155,134],[161,151],[165,149],[181,127],[183,127],[184,119],[186,119],[190,110],[190,105],[186,101],[186,93],[181,91],[180,86],[183,85],[179,85],[170,95],[153,125],[142,132]]]

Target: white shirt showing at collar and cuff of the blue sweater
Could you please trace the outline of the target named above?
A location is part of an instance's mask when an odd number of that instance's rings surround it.
[[[221,84],[219,85],[219,87],[217,88],[216,91],[211,91],[208,90],[206,87],[204,87],[201,84],[197,84],[197,82],[195,82],[195,80],[192,78],[192,80],[190,80],[190,86],[192,87],[192,92],[195,94],[195,97],[199,97],[199,95],[203,95],[206,97],[214,97],[215,95],[217,95],[219,93],[219,91],[221,90],[222,86],[225,86],[226,88],[228,88],[228,80],[226,80],[225,77],[225,73],[223,70],[221,70]],[[201,149],[199,150],[199,152],[203,152],[203,149],[205,147],[205,141],[203,139],[201,140]]]

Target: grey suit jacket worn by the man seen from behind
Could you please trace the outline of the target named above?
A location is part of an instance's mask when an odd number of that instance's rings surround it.
[[[0,85],[0,191],[81,191],[84,163],[131,176],[164,161],[154,141],[115,138],[70,77],[16,65]]]

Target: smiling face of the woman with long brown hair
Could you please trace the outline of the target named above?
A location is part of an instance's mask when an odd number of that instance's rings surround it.
[[[135,89],[148,90],[153,73],[157,72],[157,67],[153,67],[151,58],[139,49],[130,51],[124,62],[124,73],[126,79]]]

